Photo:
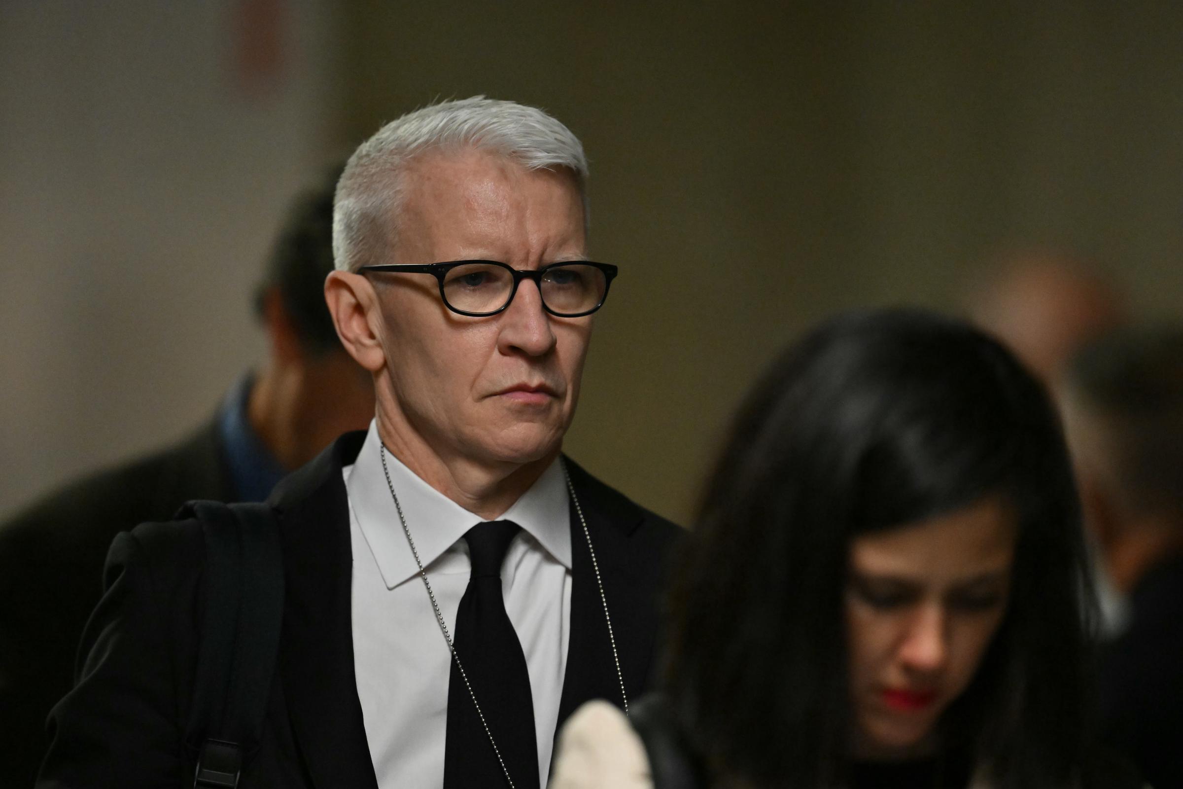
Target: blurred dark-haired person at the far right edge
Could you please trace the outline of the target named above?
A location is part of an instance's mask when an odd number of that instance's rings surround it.
[[[1087,523],[1125,601],[1101,651],[1104,735],[1151,784],[1183,787],[1183,328],[1097,338],[1062,389]]]

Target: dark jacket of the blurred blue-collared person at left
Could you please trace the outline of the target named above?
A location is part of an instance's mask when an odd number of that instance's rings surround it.
[[[115,536],[193,498],[233,499],[214,421],[183,442],[103,471],[0,525],[0,787],[30,787],[45,718],[73,686],[78,638],[103,593]]]

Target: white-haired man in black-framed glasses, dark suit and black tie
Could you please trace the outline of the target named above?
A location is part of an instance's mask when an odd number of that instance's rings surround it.
[[[241,785],[542,787],[573,710],[646,688],[678,529],[561,453],[616,273],[586,177],[563,124],[483,97],[345,167],[325,298],[376,415],[269,500],[283,619]],[[112,545],[41,785],[193,775],[205,557],[196,520]]]

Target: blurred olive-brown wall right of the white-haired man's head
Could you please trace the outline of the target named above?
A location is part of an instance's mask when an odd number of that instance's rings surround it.
[[[741,393],[856,305],[958,309],[1042,242],[1183,292],[1183,5],[351,5],[342,137],[437,97],[551,110],[621,276],[568,442],[686,520]]]

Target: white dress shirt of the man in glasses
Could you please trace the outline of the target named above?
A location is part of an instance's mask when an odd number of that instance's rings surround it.
[[[382,789],[442,787],[452,655],[382,473],[377,428],[343,470],[353,542],[353,634],[357,696],[374,772]],[[468,586],[461,537],[486,518],[435,491],[386,453],[390,481],[448,633]],[[502,565],[502,590],[525,653],[547,785],[567,667],[571,609],[570,510],[555,460],[499,518],[522,526]],[[480,687],[473,687],[480,700]],[[493,738],[498,732],[493,730]],[[512,776],[511,776],[512,777]]]

